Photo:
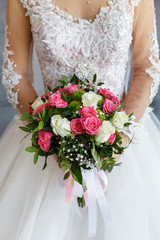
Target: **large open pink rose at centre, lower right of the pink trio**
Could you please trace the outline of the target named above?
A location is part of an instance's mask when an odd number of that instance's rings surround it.
[[[87,117],[81,118],[82,127],[86,133],[89,135],[94,135],[98,133],[99,127],[102,125],[102,122],[97,117]]]

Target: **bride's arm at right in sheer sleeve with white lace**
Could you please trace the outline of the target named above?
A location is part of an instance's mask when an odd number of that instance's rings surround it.
[[[159,47],[153,0],[141,0],[135,8],[132,43],[132,81],[126,96],[125,110],[134,112],[134,124],[128,136],[141,136],[148,106],[160,83]]]

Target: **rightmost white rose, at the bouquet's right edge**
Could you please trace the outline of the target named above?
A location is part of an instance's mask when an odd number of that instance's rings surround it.
[[[111,118],[111,123],[118,131],[122,131],[124,129],[124,124],[128,122],[128,120],[128,115],[125,112],[116,112]]]

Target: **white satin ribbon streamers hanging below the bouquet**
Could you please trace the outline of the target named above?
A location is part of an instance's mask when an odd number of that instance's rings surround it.
[[[87,186],[87,197],[88,197],[88,238],[93,238],[97,231],[97,203],[99,205],[104,223],[106,226],[113,224],[113,220],[110,214],[107,199],[105,197],[105,191],[108,185],[108,179],[104,171],[98,171],[96,168],[92,170],[82,169],[83,180]],[[83,188],[78,182],[74,183],[73,197],[74,200],[71,203],[70,211],[75,212],[82,217],[79,206],[77,204],[77,197],[83,196]],[[73,213],[70,212],[72,218]],[[69,240],[69,236],[72,231],[73,219],[70,219],[69,228],[67,228],[67,234],[65,240]],[[70,229],[70,230],[69,230]]]

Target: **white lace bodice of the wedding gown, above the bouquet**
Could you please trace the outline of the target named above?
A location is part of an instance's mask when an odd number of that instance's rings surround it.
[[[49,1],[21,2],[30,16],[45,86],[56,85],[62,74],[70,77],[75,72],[92,79],[97,73],[98,80],[122,99],[134,6],[139,1],[132,1],[132,5],[109,1],[93,22],[74,22]]]

